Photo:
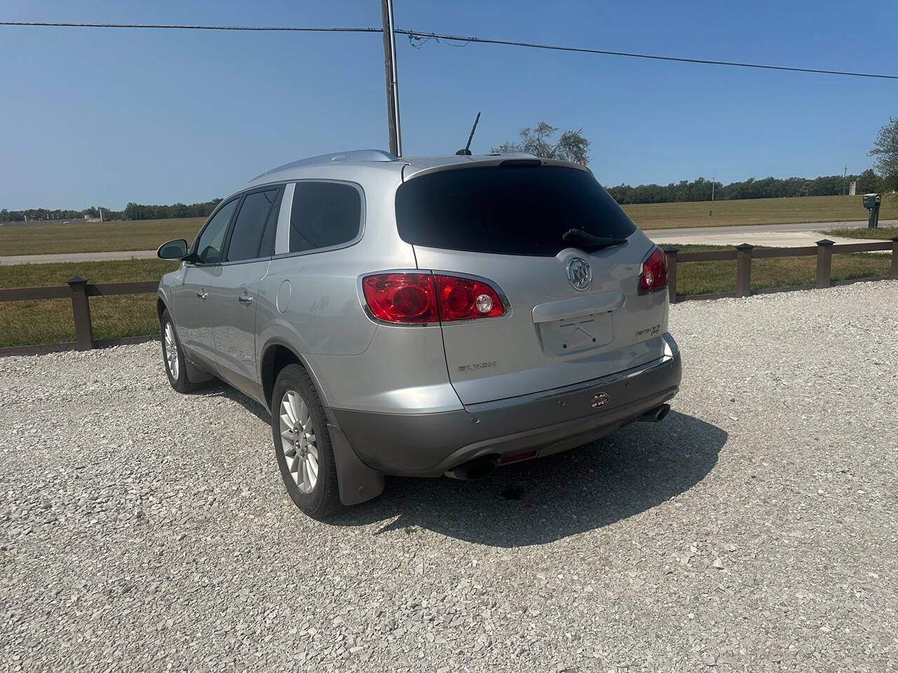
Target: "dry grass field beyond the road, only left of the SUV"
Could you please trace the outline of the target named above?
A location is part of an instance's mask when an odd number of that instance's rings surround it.
[[[202,217],[183,217],[137,222],[4,224],[0,227],[0,255],[154,250],[166,240],[193,240],[205,221]]]

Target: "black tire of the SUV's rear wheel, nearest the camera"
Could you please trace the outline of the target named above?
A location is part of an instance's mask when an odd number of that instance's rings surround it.
[[[308,410],[308,421],[311,422],[314,431],[314,448],[318,452],[318,473],[308,493],[304,493],[299,485],[303,477],[302,459],[296,449],[292,449],[290,465],[287,465],[284,441],[281,438],[281,405],[288,392],[298,394]],[[337,513],[342,505],[339,501],[339,486],[337,484],[337,466],[334,464],[334,453],[330,445],[327,416],[321,406],[318,391],[312,382],[309,373],[299,364],[290,364],[277,374],[274,390],[271,393],[271,436],[275,444],[275,456],[277,467],[280,469],[281,478],[284,480],[286,492],[296,506],[313,519],[325,520]]]

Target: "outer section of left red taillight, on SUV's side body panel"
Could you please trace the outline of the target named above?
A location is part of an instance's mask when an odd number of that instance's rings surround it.
[[[365,302],[386,322],[436,322],[433,274],[380,274],[362,279]]]

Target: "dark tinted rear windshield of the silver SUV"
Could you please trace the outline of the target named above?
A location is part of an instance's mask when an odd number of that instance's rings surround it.
[[[396,191],[402,240],[427,248],[554,257],[568,229],[626,238],[636,230],[585,170],[484,166],[440,170]]]

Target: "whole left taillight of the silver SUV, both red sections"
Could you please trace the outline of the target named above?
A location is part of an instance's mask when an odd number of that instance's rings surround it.
[[[505,304],[489,283],[456,275],[368,275],[362,279],[362,291],[374,318],[385,322],[421,324],[505,315]]]

